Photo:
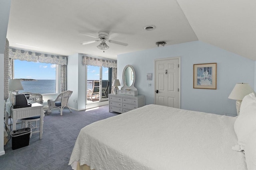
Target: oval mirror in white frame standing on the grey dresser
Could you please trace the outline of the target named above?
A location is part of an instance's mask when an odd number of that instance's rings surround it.
[[[123,83],[124,86],[121,88],[122,90],[137,90],[134,87],[135,82],[135,71],[131,65],[127,65],[123,70]]]

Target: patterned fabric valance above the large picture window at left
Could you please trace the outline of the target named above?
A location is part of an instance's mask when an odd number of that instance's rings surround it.
[[[14,48],[9,49],[9,58],[22,61],[67,65],[67,57],[65,56],[35,53]]]

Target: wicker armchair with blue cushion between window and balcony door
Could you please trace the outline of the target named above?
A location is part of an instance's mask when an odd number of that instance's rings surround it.
[[[48,112],[47,114],[51,112],[52,109],[58,108],[60,110],[60,115],[62,116],[62,110],[64,107],[68,107],[68,109],[71,111],[70,107],[68,106],[68,99],[70,98],[73,91],[67,90],[65,92],[60,93],[55,100],[49,99],[48,102]]]

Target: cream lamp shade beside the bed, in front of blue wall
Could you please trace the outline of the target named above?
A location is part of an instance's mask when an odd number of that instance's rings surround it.
[[[243,100],[244,96],[254,92],[248,83],[237,83],[228,96],[229,99]]]

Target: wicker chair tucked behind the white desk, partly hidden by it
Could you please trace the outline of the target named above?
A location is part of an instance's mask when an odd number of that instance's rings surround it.
[[[39,104],[43,104],[43,96],[42,94],[38,94],[38,93],[30,93],[30,92],[24,92],[22,94],[25,94],[28,103],[39,103]],[[45,111],[44,111],[45,113]],[[38,133],[40,132],[40,130],[37,131],[33,131],[33,129],[39,128],[40,126],[38,126],[38,121],[40,121],[40,116],[33,116],[33,117],[27,117],[24,119],[20,119],[21,121],[21,127],[25,128],[25,127],[30,127],[32,129],[32,133]]]

